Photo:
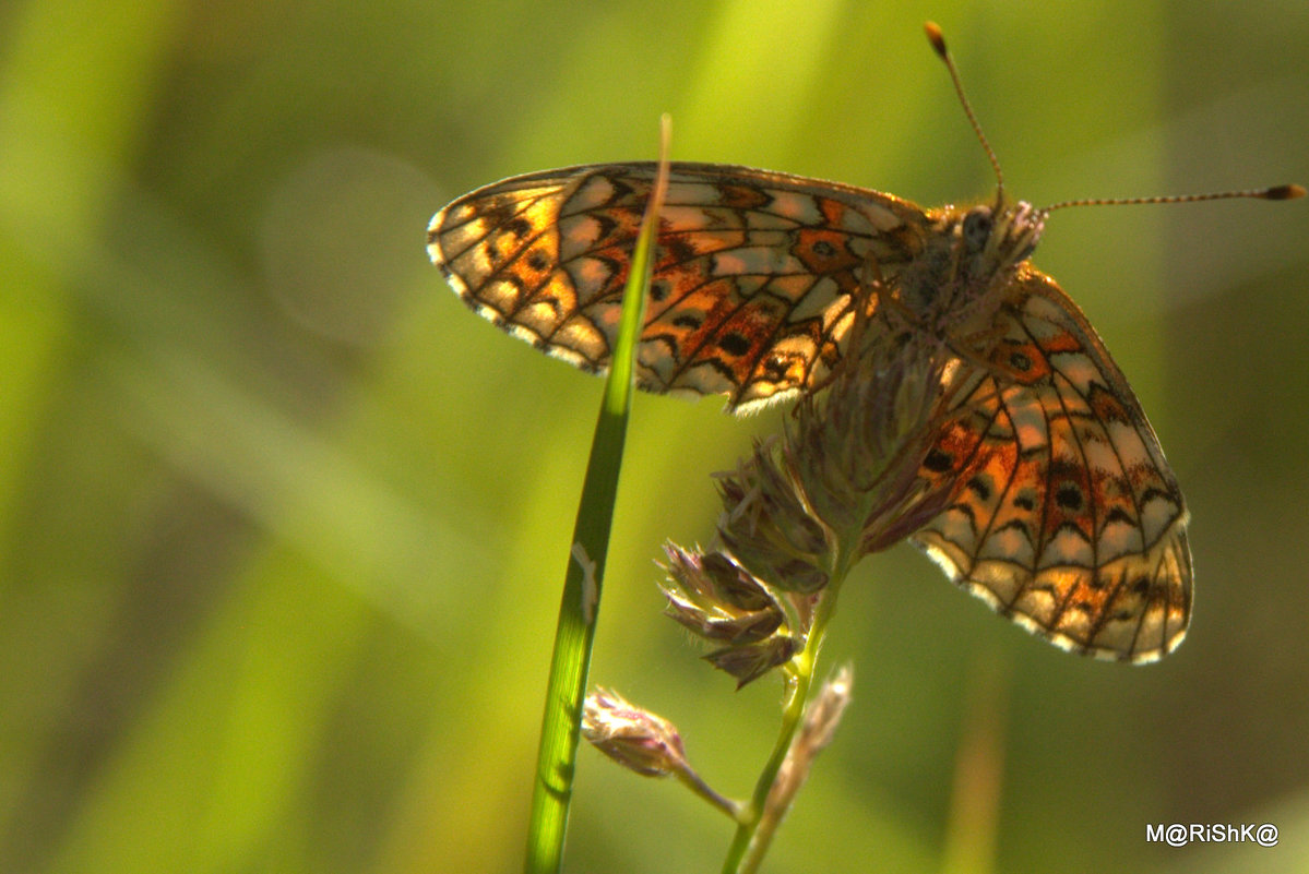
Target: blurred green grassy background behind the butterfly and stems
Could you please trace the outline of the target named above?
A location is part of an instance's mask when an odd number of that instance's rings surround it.
[[[425,224],[651,158],[665,110],[675,158],[990,196],[928,17],[1016,196],[1309,183],[1296,3],[0,7],[0,870],[516,870],[601,383],[470,314]],[[1306,238],[1302,201],[1051,218],[1035,260],[1186,488],[1191,636],[1079,659],[867,563],[825,652],[855,701],[766,870],[1309,869]],[[738,797],[778,684],[700,662],[653,560],[779,415],[637,399],[592,670]],[[1282,841],[1147,844],[1173,822]],[[729,840],[581,751],[569,870]]]

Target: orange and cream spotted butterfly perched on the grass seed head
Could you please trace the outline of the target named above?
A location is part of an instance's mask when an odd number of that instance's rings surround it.
[[[611,164],[505,179],[437,213],[429,253],[474,310],[601,372],[653,175]],[[956,497],[915,540],[1052,642],[1152,661],[1190,615],[1187,514],[1126,378],[1026,260],[1043,224],[1021,201],[923,209],[673,164],[636,379],[745,412],[826,385],[860,318],[931,338],[970,382],[922,470]]]

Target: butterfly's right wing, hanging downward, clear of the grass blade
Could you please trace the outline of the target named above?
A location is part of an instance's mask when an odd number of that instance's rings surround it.
[[[1191,612],[1187,512],[1158,440],[1049,276],[1020,267],[996,331],[923,468],[954,480],[956,497],[914,539],[958,585],[1054,644],[1155,661]]]

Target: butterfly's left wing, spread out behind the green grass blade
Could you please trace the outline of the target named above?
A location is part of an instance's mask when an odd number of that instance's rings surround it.
[[[482,315],[602,372],[653,177],[653,164],[613,164],[505,179],[437,213],[428,250]],[[637,385],[725,394],[738,411],[819,385],[872,271],[893,277],[924,232],[924,212],[891,195],[674,164]]]

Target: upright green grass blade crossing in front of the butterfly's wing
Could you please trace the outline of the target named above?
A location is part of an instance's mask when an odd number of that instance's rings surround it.
[[[533,781],[531,813],[528,823],[526,874],[554,874],[563,865],[568,807],[583,713],[583,697],[596,637],[601,584],[609,552],[618,474],[623,461],[623,440],[631,411],[634,357],[644,321],[649,288],[651,253],[658,229],[658,212],[668,188],[668,144],[670,122],[661,119],[660,167],[649,204],[641,221],[631,272],[623,290],[622,324],[610,364],[605,398],[596,421],[586,479],[577,506],[559,604],[555,650],[550,661],[546,707],[541,721],[541,746]]]

